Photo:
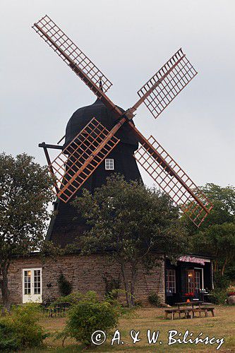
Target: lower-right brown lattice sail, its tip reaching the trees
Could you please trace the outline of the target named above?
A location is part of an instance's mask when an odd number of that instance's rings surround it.
[[[140,146],[140,148],[135,152],[135,159],[147,171],[147,173],[150,174],[152,179],[154,179],[157,184],[169,194],[174,203],[180,206],[183,213],[188,215],[197,227],[200,227],[201,223],[212,209],[212,203],[207,200],[205,195],[193,183],[192,179],[188,177],[186,172],[179,167],[179,164],[176,163],[176,161],[166,150],[164,150],[164,148],[162,148],[153,136],[150,136],[148,141],[166,162],[164,167],[162,167],[164,162],[157,161],[157,159],[149,152],[150,148],[148,148],[147,145]],[[167,165],[169,165],[171,169],[176,172],[182,183],[176,179],[174,174],[170,172]],[[193,193],[196,198],[200,200],[200,203],[204,205],[206,210],[202,207],[202,205],[195,201],[195,198],[193,198],[192,194],[188,192],[183,184],[186,185],[186,187],[191,190],[191,193]]]

